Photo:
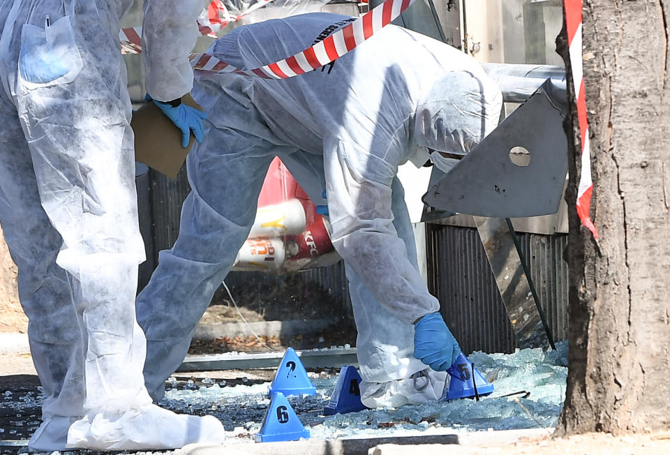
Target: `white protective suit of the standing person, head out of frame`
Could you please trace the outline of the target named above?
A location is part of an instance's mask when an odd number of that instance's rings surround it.
[[[146,3],[150,73],[161,73],[149,88],[177,98],[191,88],[187,48],[198,37],[195,17],[204,3]],[[119,17],[129,6],[0,2],[0,223],[46,396],[33,450],[163,449],[223,439],[214,417],[158,408],[144,388],[145,342],[134,305],[144,246],[119,50]]]

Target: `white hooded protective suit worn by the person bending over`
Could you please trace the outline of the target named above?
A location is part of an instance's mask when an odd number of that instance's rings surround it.
[[[348,20],[312,13],[253,24],[218,39],[210,52],[237,68],[258,68]],[[439,304],[419,276],[395,176],[408,159],[428,161],[426,147],[464,154],[496,126],[502,97],[484,70],[463,52],[389,25],[334,63],[287,80],[196,74],[193,96],[209,120],[204,142],[187,158],[192,191],[179,238],[161,252],[137,299],[151,396],[161,398],[163,381],[184,359],[251,228],[269,163],[279,156],[316,204],[326,203],[327,190],[332,241],[350,281],[364,403],[438,398],[445,373],[412,357],[412,322]],[[424,378],[415,374],[426,369]]]

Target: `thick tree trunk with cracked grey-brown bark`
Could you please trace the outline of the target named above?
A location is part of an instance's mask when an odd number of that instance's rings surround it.
[[[584,1],[591,215],[600,248],[575,210],[581,148],[573,103],[569,372],[558,434],[616,435],[670,422],[670,17],[664,8],[670,2]],[[565,48],[562,53],[565,58]],[[569,96],[574,100],[574,92]]]

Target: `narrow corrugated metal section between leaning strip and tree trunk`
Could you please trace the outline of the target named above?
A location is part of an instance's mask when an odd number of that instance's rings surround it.
[[[567,340],[567,235],[519,234],[519,240],[553,338]]]

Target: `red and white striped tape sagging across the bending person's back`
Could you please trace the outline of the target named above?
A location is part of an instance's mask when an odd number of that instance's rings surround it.
[[[241,73],[245,75],[256,75],[265,79],[285,79],[308,71],[321,68],[324,65],[342,57],[373,36],[398,17],[415,0],[386,0],[381,5],[359,17],[351,24],[336,33],[325,38],[325,40],[298,52],[292,57],[255,68],[242,71],[225,62],[216,59],[207,53],[195,54],[191,57],[191,66],[194,70],[211,71],[215,73]]]

